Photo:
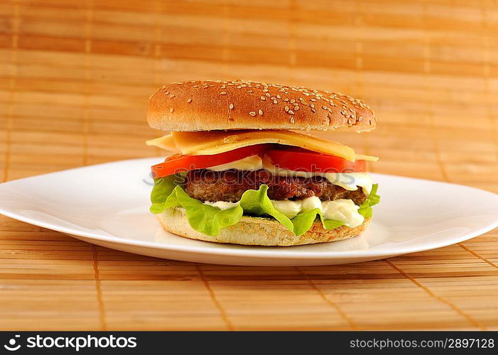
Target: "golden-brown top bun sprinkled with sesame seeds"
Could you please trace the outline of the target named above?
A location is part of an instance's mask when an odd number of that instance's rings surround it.
[[[366,104],[345,94],[245,80],[175,82],[149,98],[148,124],[163,131],[294,129],[372,131]]]

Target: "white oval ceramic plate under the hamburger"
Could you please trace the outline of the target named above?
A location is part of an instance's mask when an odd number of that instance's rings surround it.
[[[200,263],[310,266],[354,263],[448,246],[498,226],[498,195],[472,187],[372,174],[381,203],[359,236],[308,246],[195,241],[161,229],[148,212],[150,166],[123,160],[0,184],[0,213],[100,246]]]

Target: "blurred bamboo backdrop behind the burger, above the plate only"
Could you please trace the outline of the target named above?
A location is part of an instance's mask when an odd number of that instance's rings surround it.
[[[0,176],[163,155],[154,90],[245,79],[364,99],[377,130],[332,136],[376,172],[498,192],[497,45],[491,0],[4,0]]]

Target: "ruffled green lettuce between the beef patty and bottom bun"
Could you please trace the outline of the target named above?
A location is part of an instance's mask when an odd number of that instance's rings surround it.
[[[244,192],[239,205],[236,207],[220,209],[209,204],[203,204],[201,201],[188,196],[180,186],[182,182],[183,175],[170,175],[154,180],[151,193],[151,212],[158,214],[165,209],[181,206],[185,209],[190,226],[196,231],[209,236],[216,236],[220,233],[220,229],[237,224],[243,214],[273,217],[297,236],[308,231],[317,217],[320,218],[325,229],[335,229],[344,225],[344,223],[333,221],[332,219],[323,219],[323,214],[318,208],[301,212],[296,217],[289,219],[281,212],[278,212],[271,203],[266,193],[268,190],[267,185],[261,185],[259,190],[247,190]],[[372,217],[372,206],[379,203],[379,199],[377,184],[375,184],[372,187],[371,194],[362,203],[358,212],[365,218]]]

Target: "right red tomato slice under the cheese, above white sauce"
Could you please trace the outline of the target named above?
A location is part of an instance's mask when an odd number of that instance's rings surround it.
[[[367,171],[366,160],[354,162],[335,155],[316,153],[302,148],[271,149],[266,151],[274,165],[288,170],[309,173],[363,173]]]

